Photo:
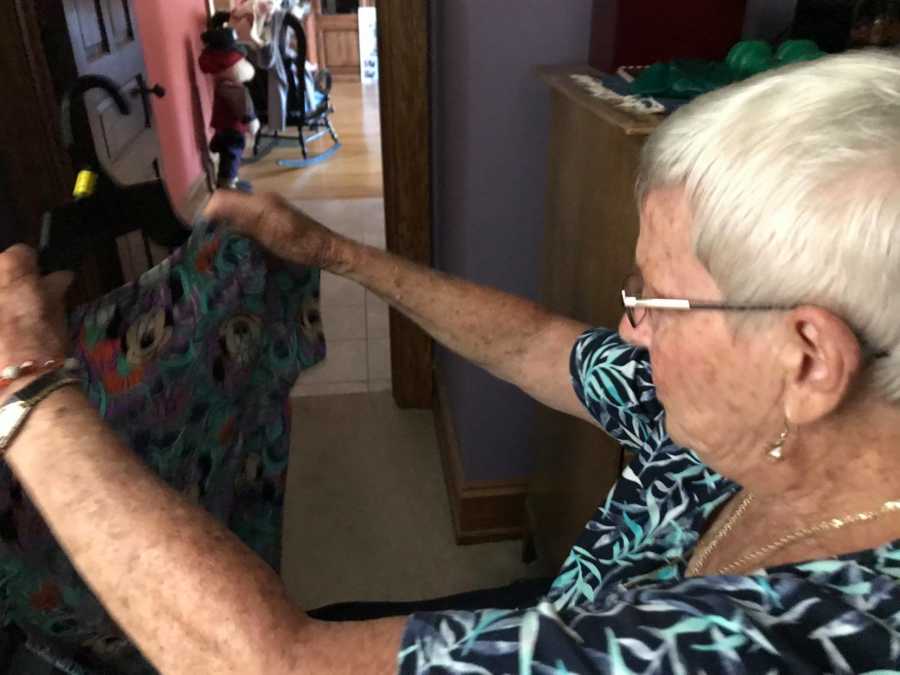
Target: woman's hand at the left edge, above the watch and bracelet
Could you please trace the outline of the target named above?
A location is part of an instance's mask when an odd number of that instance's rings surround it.
[[[67,355],[71,283],[71,272],[41,278],[37,254],[27,246],[0,253],[0,369]]]

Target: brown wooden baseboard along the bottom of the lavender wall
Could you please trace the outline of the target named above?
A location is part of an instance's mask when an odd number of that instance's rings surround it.
[[[434,421],[457,544],[525,536],[526,481],[465,481],[447,392],[434,377]]]

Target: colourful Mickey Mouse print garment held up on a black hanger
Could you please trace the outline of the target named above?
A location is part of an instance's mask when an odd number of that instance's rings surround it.
[[[289,392],[325,355],[319,272],[198,225],[137,283],[74,312],[84,391],[169,486],[274,569],[290,440]],[[79,578],[0,464],[0,610],[69,673],[155,672]]]

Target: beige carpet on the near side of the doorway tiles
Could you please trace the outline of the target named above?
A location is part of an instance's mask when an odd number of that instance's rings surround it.
[[[389,392],[296,398],[283,572],[305,609],[533,576],[517,541],[457,546],[430,412]]]

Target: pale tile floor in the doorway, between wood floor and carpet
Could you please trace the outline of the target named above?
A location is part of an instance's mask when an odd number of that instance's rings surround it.
[[[370,246],[385,247],[383,199],[294,202],[321,223]],[[300,375],[294,396],[333,396],[391,388],[388,306],[362,286],[322,274],[322,323],[328,357]]]

